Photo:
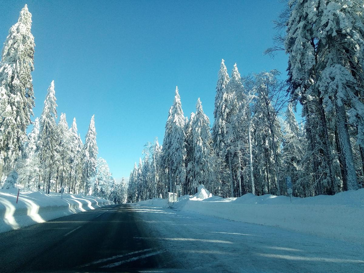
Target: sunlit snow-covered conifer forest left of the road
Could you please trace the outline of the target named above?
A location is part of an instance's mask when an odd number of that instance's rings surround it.
[[[58,123],[55,84],[51,82],[39,118],[32,122],[35,96],[32,15],[27,5],[9,29],[0,63],[0,178],[2,188],[14,183],[45,193],[96,195],[125,202],[124,179],[117,184],[105,159],[98,158],[94,115],[83,143],[76,118],[68,127],[66,114]],[[32,126],[27,134],[27,128]],[[8,179],[7,179],[8,178]],[[10,179],[9,179],[10,178]],[[5,181],[6,179],[6,181]]]

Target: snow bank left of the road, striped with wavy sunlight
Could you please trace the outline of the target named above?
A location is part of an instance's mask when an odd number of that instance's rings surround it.
[[[110,205],[112,202],[93,196],[60,193],[20,191],[16,203],[16,193],[0,190],[0,232],[42,223],[47,220],[93,210]]]

